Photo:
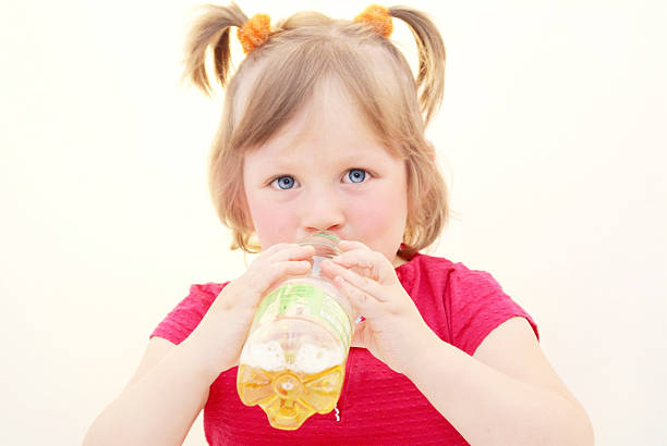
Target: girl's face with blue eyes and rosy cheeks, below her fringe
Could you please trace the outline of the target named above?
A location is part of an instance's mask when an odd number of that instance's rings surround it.
[[[330,84],[245,154],[243,186],[263,249],[327,231],[404,263],[396,252],[408,214],[405,163]]]

